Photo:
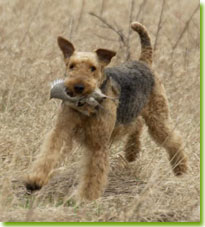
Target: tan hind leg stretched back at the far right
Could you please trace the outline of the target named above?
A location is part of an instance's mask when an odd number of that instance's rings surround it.
[[[187,160],[184,155],[183,141],[172,123],[165,90],[158,79],[149,103],[143,111],[143,117],[152,138],[167,150],[175,175],[185,173]]]

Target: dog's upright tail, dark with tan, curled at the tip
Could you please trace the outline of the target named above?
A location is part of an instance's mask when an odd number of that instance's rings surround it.
[[[147,29],[138,22],[132,22],[131,27],[138,32],[141,40],[141,56],[140,61],[146,62],[148,65],[152,64],[152,45]]]

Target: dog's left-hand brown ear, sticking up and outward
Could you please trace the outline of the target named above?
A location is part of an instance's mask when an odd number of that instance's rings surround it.
[[[64,58],[65,59],[70,58],[70,56],[75,51],[73,44],[61,36],[58,37],[57,41],[58,41],[58,46],[63,52]]]

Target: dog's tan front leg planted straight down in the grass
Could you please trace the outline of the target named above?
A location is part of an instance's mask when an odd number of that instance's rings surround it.
[[[85,124],[85,145],[80,199],[94,200],[104,192],[109,170],[108,147],[116,123],[116,104],[105,101],[104,111]]]

